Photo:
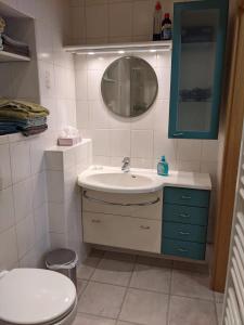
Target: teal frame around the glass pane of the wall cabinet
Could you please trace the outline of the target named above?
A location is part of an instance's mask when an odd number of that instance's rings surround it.
[[[219,107],[223,77],[223,62],[228,25],[228,0],[206,0],[196,2],[175,3],[174,5],[174,37],[171,58],[171,90],[168,138],[170,139],[218,139]],[[214,88],[210,109],[210,128],[208,131],[185,131],[178,129],[178,101],[180,83],[180,53],[181,53],[181,13],[183,10],[197,11],[207,9],[219,10],[219,25],[216,39],[216,57],[214,69]],[[190,117],[191,118],[191,117]]]

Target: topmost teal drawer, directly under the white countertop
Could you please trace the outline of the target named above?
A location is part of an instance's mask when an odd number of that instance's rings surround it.
[[[174,205],[207,208],[209,206],[210,192],[183,187],[165,187],[164,203]]]

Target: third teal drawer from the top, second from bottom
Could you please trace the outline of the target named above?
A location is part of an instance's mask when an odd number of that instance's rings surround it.
[[[185,242],[206,242],[207,227],[205,225],[195,225],[187,223],[164,222],[163,237],[179,239]]]

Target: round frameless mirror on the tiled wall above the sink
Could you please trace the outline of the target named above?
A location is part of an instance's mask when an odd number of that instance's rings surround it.
[[[145,113],[157,95],[157,77],[151,65],[136,56],[114,61],[102,77],[105,105],[114,114],[134,117]]]

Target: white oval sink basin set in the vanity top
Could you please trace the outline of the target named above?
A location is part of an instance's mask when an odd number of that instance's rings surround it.
[[[93,168],[82,172],[78,178],[79,185],[90,190],[103,190],[118,193],[145,193],[157,191],[163,186],[162,178],[153,172],[118,168]]]

